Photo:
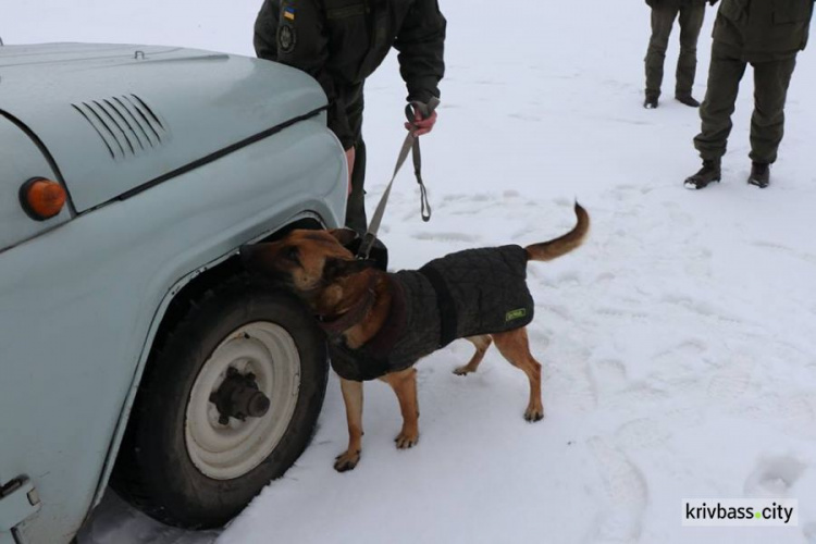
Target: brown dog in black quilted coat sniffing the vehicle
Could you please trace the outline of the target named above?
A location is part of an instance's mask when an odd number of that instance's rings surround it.
[[[530,381],[524,419],[544,417],[541,364],[530,354],[526,325],[533,317],[526,279],[530,260],[548,261],[581,245],[590,227],[576,203],[569,233],[526,248],[471,249],[436,259],[419,271],[386,273],[344,247],[348,230],[293,231],[281,240],[242,247],[245,263],[299,295],[327,334],[332,367],[341,375],[348,449],[334,463],[354,469],[362,438],[362,381],[380,379],[396,393],[403,415],[398,448],[419,440],[416,363],[450,341],[467,337],[475,354],[454,372],[475,372],[492,342]]]

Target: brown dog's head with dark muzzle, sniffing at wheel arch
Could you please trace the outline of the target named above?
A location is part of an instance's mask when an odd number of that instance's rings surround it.
[[[372,267],[344,247],[354,236],[346,228],[296,230],[276,242],[242,246],[240,258],[247,269],[310,298]]]

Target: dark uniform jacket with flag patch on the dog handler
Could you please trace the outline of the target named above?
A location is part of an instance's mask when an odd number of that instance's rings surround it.
[[[359,89],[392,47],[399,52],[408,100],[438,98],[445,27],[437,0],[265,0],[255,23],[255,49],[320,83],[330,102],[329,127],[348,149],[349,89]]]

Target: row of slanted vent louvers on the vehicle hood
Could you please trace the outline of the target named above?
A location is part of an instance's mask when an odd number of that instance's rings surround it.
[[[111,159],[135,157],[161,146],[164,124],[136,95],[71,104],[102,138]]]

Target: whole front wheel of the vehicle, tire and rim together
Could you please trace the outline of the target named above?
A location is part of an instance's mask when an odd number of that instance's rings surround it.
[[[311,438],[325,344],[292,295],[235,279],[189,305],[148,362],[112,485],[164,523],[223,526]]]

